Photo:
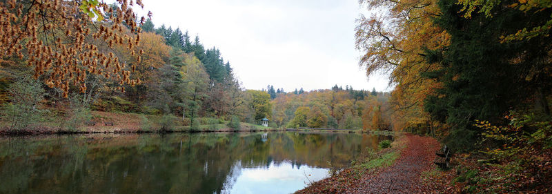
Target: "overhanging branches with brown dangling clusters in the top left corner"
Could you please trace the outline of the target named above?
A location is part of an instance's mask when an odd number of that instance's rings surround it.
[[[130,79],[134,66],[127,70],[124,61],[113,52],[100,52],[97,43],[110,48],[125,45],[140,61],[144,51],[135,49],[144,17],[137,21],[132,6],[144,6],[140,0],[117,0],[114,6],[90,2],[0,1],[0,56],[26,61],[34,68],[35,79],[41,77],[46,85],[60,88],[66,97],[70,84],[81,93],[86,91],[88,74],[116,79],[121,90],[124,84],[139,84],[139,80]],[[86,11],[97,14],[90,17]]]

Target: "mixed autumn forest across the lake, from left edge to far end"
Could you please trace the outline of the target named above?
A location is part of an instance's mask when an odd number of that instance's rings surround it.
[[[3,30],[5,37],[21,33],[31,39],[3,45],[8,54],[0,61],[5,133],[86,132],[97,130],[90,125],[101,122],[123,131],[239,130],[242,122],[258,125],[263,118],[270,119],[270,128],[391,130],[388,93],[337,85],[310,92],[300,88],[286,93],[270,85],[246,90],[221,51],[205,48],[188,31],[155,26],[149,18],[120,21],[117,14],[130,8],[117,3],[101,5],[113,12],[103,21],[85,22],[79,15],[74,22],[86,25],[70,26],[59,22],[55,10],[75,5],[41,5],[48,9],[29,11],[37,14],[37,21],[15,19],[21,23],[4,28],[30,23],[36,31]],[[66,60],[71,62],[64,64]],[[131,122],[112,118],[121,113],[134,114],[122,116]]]

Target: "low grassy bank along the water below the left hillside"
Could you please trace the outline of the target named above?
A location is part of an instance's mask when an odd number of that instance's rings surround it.
[[[66,133],[172,133],[172,132],[248,132],[284,130],[270,128],[245,122],[239,123],[239,128],[230,128],[228,121],[216,118],[197,118],[198,125],[190,126],[190,119],[182,119],[174,115],[145,115],[139,113],[109,113],[92,111],[90,119],[71,122],[65,115],[48,113],[43,119],[33,121],[24,129],[12,130],[8,119],[0,122],[0,134],[66,134]]]

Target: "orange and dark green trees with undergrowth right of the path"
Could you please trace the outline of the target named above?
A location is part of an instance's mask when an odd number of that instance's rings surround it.
[[[358,20],[360,66],[391,72],[402,130],[463,153],[455,192],[549,192],[551,1],[360,2],[386,10]]]

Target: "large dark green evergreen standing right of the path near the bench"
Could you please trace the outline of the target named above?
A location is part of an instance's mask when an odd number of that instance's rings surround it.
[[[495,6],[493,17],[473,13],[470,19],[462,16],[456,1],[442,0],[442,10],[435,22],[451,35],[446,50],[426,50],[429,63],[440,64],[441,69],[424,74],[442,83],[442,88],[429,95],[424,109],[440,122],[453,126],[446,139],[451,146],[469,148],[480,134],[473,126],[475,119],[502,124],[503,115],[523,101],[533,97],[538,88],[550,83],[531,83],[527,75],[537,62],[548,58],[551,37],[502,42],[500,37],[515,34],[526,23],[549,19],[550,13],[527,15],[520,10]],[[534,84],[534,85],[533,85]]]

